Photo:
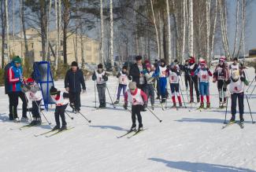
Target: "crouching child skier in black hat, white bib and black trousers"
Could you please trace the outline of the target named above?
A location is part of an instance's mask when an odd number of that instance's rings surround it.
[[[67,123],[65,122],[65,109],[69,104],[69,93],[61,93],[61,91],[57,90],[54,86],[50,88],[50,96],[52,97],[53,101],[55,102],[55,122],[56,126],[54,126],[53,130],[66,130]],[[60,128],[60,117],[62,126]]]

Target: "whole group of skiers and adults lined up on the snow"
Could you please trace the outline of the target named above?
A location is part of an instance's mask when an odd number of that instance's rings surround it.
[[[120,103],[121,91],[124,95],[124,108],[128,108],[128,102],[132,104],[132,128],[135,130],[135,116],[139,121],[139,130],[143,130],[141,111],[146,111],[148,108],[148,99],[150,99],[151,108],[154,110],[155,93],[161,104],[164,104],[168,97],[172,98],[173,108],[176,108],[176,97],[179,107],[183,106],[180,80],[181,73],[184,72],[184,81],[186,89],[190,93],[190,103],[194,102],[194,89],[197,102],[200,102],[199,108],[204,108],[204,98],[206,97],[206,108],[210,108],[210,77],[213,76],[213,82],[217,82],[219,92],[219,108],[227,106],[228,102],[228,84],[231,93],[232,101],[232,118],[231,122],[236,119],[236,100],[239,102],[239,118],[243,122],[243,96],[244,86],[247,85],[247,79],[242,66],[238,59],[234,58],[233,63],[228,65],[225,57],[221,57],[219,64],[213,71],[207,67],[205,60],[195,62],[195,57],[189,57],[185,60],[185,64],[179,64],[175,60],[171,64],[166,64],[165,60],[156,60],[154,64],[150,64],[149,60],[143,62],[141,56],[135,57],[135,64],[128,71],[127,66],[123,66],[117,74],[117,101],[114,104]],[[40,116],[40,105],[43,100],[39,83],[36,79],[29,78],[24,80],[22,75],[21,58],[15,57],[11,63],[6,66],[6,93],[9,96],[9,119],[14,122],[19,122],[17,116],[18,97],[23,101],[23,115],[21,120],[28,121],[27,106],[28,99],[32,101],[32,116],[33,120],[30,123],[32,126],[41,125],[42,119]],[[108,81],[108,73],[104,71],[103,65],[98,64],[98,69],[92,75],[92,80],[95,81],[95,86],[98,90],[98,108],[106,108],[106,82]],[[131,81],[132,80],[132,81]],[[130,82],[131,81],[131,82]],[[169,83],[168,83],[169,82]],[[167,90],[167,84],[170,86],[171,94]],[[128,86],[128,90],[127,90]],[[54,86],[50,88],[50,96],[56,104],[54,130],[67,129],[65,122],[65,109],[68,104],[73,112],[80,112],[80,93],[86,91],[86,86],[83,78],[83,71],[78,68],[76,61],[72,62],[71,68],[65,75],[65,90],[61,92]],[[61,117],[62,126],[59,117]]]

